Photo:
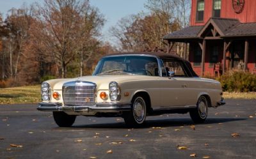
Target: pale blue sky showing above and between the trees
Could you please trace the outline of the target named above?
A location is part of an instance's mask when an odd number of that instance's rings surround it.
[[[11,8],[19,8],[23,3],[31,4],[42,0],[0,0],[0,12],[6,15]],[[116,22],[122,17],[145,11],[144,4],[147,0],[90,0],[93,6],[99,8],[105,16],[106,24],[102,30],[104,38],[108,36],[109,27],[115,26]]]

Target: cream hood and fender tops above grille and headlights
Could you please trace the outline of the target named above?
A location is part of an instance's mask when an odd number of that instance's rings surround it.
[[[118,84],[122,84],[124,82],[132,82],[138,80],[156,80],[159,77],[154,76],[145,76],[145,75],[95,75],[95,76],[84,76],[84,77],[77,77],[74,79],[54,79],[54,80],[47,80],[45,82],[49,83],[51,88],[54,90],[61,90],[63,84],[65,82],[71,81],[87,81],[93,82],[97,84],[98,89],[108,89],[109,82],[115,81]]]

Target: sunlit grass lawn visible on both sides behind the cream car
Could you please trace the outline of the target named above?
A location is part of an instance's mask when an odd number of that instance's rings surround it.
[[[40,89],[40,85],[0,89],[0,104],[38,103],[41,100]],[[225,99],[256,99],[256,92],[224,92],[223,97]]]

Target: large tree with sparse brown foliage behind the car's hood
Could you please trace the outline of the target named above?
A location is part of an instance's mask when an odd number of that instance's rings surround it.
[[[103,24],[102,15],[88,0],[44,0],[43,6],[38,5],[33,36],[38,49],[54,59],[65,78],[67,64],[79,53],[88,54],[86,44],[99,35]]]

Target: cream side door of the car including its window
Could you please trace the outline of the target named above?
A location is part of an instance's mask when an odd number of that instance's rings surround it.
[[[163,59],[163,64],[166,72],[173,72],[174,75],[161,77],[161,107],[189,105],[189,75],[184,64],[176,59]]]

